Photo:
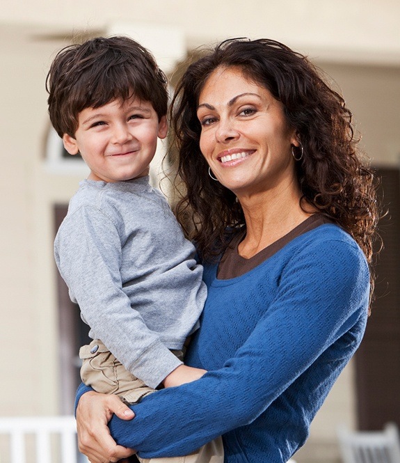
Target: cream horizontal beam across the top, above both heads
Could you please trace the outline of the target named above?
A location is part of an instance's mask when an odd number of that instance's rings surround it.
[[[397,0],[14,0],[0,22],[30,24],[37,34],[130,22],[168,24],[189,46],[232,36],[269,36],[293,47],[345,58],[400,57]]]

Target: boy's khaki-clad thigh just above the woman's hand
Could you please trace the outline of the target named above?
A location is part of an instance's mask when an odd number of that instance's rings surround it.
[[[118,395],[127,403],[136,403],[154,392],[154,389],[127,371],[99,339],[81,347],[79,357],[82,359],[82,381],[97,392]]]

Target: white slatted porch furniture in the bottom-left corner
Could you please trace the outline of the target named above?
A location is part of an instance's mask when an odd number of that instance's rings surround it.
[[[8,439],[2,438],[1,463],[31,462],[32,454],[36,463],[88,462],[78,452],[77,425],[73,416],[0,417],[0,436],[4,435]],[[33,436],[34,445],[28,442],[29,436]],[[8,455],[7,460],[5,455]]]

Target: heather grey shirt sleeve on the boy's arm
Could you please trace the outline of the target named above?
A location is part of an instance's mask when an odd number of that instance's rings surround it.
[[[61,225],[54,251],[90,336],[102,340],[127,370],[155,388],[182,362],[147,328],[122,290],[121,246],[114,221],[96,207],[82,206]]]

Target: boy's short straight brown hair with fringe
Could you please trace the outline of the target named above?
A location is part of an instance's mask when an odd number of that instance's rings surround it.
[[[83,109],[134,95],[152,103],[159,119],[168,107],[167,79],[152,54],[131,38],[98,37],[61,49],[46,79],[51,124],[74,137]]]

